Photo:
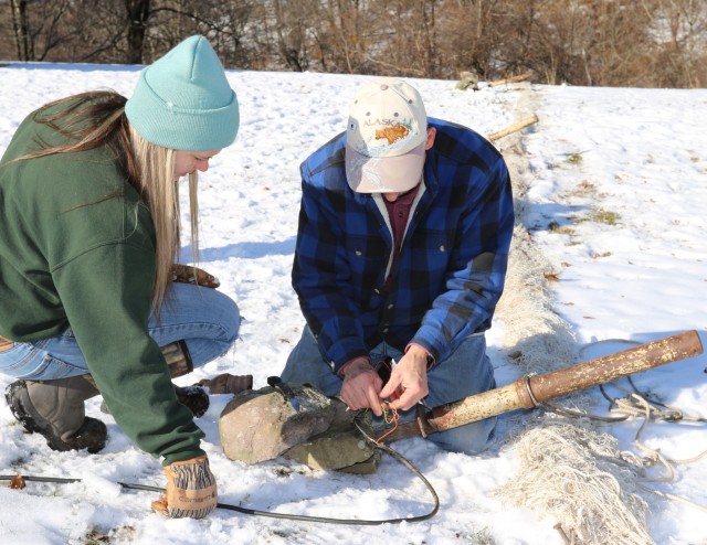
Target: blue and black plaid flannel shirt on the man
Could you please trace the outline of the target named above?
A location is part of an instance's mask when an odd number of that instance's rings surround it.
[[[370,194],[346,182],[341,133],[300,165],[293,287],[324,360],[338,372],[381,341],[425,348],[443,364],[486,331],[504,288],[514,226],[506,163],[483,137],[429,118],[425,191],[386,292],[392,235]]]

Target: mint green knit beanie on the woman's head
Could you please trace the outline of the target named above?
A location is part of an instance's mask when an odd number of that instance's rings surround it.
[[[175,150],[225,148],[239,130],[235,93],[211,44],[198,35],[143,70],[125,113],[148,142]]]

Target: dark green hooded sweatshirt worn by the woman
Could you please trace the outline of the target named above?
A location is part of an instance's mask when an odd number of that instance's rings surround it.
[[[0,160],[0,336],[67,328],[116,423],[163,463],[202,455],[203,432],[177,402],[149,336],[155,229],[110,149],[12,159],[63,137],[20,125]]]

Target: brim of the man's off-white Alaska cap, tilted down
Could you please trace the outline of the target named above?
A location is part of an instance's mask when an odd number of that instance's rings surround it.
[[[397,157],[368,157],[346,147],[346,180],[357,193],[402,193],[420,182],[425,142]]]

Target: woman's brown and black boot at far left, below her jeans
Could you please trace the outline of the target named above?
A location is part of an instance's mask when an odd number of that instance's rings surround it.
[[[106,425],[86,417],[84,400],[98,395],[84,376],[55,381],[15,381],[4,397],[14,417],[30,434],[38,432],[53,450],[87,449],[96,453],[106,445]]]

